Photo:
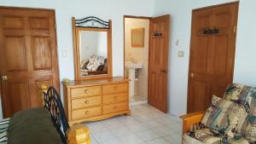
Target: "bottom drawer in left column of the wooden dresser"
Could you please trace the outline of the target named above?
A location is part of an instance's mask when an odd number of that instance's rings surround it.
[[[73,110],[71,112],[71,117],[73,120],[79,118],[90,118],[102,115],[102,107],[90,107],[79,110]]]

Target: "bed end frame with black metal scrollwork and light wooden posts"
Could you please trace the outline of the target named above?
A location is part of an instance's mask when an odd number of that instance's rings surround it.
[[[53,87],[41,85],[42,106],[49,110],[56,130],[60,133],[62,141],[67,144],[90,144],[89,129],[83,124],[74,124],[70,128],[66,113],[62,106],[60,95]]]

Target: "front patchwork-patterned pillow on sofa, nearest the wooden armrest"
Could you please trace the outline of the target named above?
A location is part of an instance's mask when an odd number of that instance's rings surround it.
[[[244,107],[213,95],[212,106],[207,109],[201,124],[222,135],[234,137],[237,125],[241,123],[241,118],[246,116],[247,112]]]

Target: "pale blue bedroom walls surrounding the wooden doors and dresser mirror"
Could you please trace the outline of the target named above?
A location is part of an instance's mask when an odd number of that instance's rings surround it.
[[[73,40],[71,17],[95,15],[103,20],[113,20],[113,76],[123,75],[123,15],[172,15],[169,110],[172,114],[186,113],[189,70],[189,43],[191,10],[234,0],[0,0],[0,5],[55,9],[60,78],[74,78]],[[256,86],[256,1],[241,0],[236,41],[235,83]],[[175,42],[179,40],[179,46]],[[62,50],[67,50],[64,57]],[[177,51],[184,57],[178,58]],[[254,65],[253,65],[254,64]],[[2,114],[2,113],[0,113]]]

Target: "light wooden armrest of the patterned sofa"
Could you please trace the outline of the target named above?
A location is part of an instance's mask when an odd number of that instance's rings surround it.
[[[180,116],[183,119],[183,135],[189,132],[193,124],[199,124],[204,114],[205,112],[193,112]]]

